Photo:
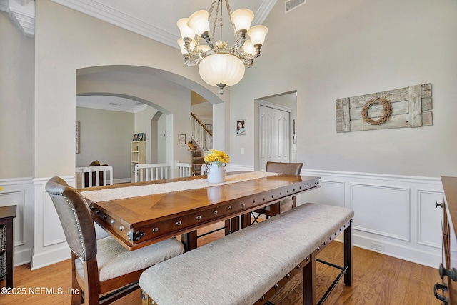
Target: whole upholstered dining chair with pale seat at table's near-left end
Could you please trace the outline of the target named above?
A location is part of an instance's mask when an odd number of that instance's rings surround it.
[[[71,304],[109,304],[139,288],[141,273],[184,252],[176,239],[129,251],[111,236],[96,239],[86,199],[64,179],[53,177],[46,191],[56,207],[71,249]],[[77,290],[76,290],[77,289]]]

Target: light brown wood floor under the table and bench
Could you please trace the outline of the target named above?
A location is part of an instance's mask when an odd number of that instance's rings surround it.
[[[211,230],[211,228],[210,228]],[[201,234],[201,232],[199,232]],[[199,246],[221,237],[223,231],[209,234],[199,239]],[[343,244],[334,241],[323,249],[318,258],[333,264],[343,264]],[[331,284],[338,270],[317,264],[318,297],[320,298]],[[373,251],[353,247],[353,285],[348,287],[343,279],[324,304],[441,304],[433,296],[433,284],[440,281],[438,270],[409,261],[395,259]],[[278,291],[271,299],[273,304],[302,304],[301,276],[296,276],[290,285]],[[0,281],[4,287],[5,281]],[[0,295],[0,304],[70,304],[71,264],[69,260],[30,270],[30,265],[14,268],[14,287],[24,294]],[[41,289],[48,289],[41,290]],[[55,294],[50,294],[54,289]],[[31,293],[36,291],[35,294]],[[38,294],[37,292],[41,292]],[[59,294],[62,292],[63,294]],[[141,304],[141,291],[135,291],[114,304]],[[215,304],[217,305],[217,304]]]

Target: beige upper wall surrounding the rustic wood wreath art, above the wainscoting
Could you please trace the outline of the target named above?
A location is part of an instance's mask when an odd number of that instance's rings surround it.
[[[288,14],[278,1],[261,56],[231,90],[231,130],[236,118],[252,122],[255,99],[297,90],[306,168],[456,176],[456,16],[452,0],[312,0]],[[426,83],[433,126],[336,133],[336,99]],[[233,163],[253,164],[255,145],[231,136]]]

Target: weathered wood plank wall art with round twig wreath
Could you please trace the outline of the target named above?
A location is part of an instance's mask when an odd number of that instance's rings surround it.
[[[433,125],[431,84],[336,100],[336,132]]]

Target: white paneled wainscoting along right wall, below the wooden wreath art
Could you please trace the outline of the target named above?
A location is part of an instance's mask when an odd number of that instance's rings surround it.
[[[300,201],[353,209],[353,245],[438,268],[441,263],[441,179],[303,169],[321,189]],[[457,244],[457,242],[456,242]]]

